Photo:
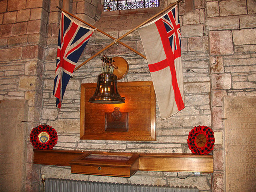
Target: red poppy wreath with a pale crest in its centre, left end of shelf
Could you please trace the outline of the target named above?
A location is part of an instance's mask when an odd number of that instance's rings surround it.
[[[36,149],[52,149],[57,140],[56,130],[49,125],[39,125],[30,132],[30,142]]]

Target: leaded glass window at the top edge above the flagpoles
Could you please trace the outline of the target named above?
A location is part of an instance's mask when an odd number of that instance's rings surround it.
[[[158,7],[158,0],[104,0],[104,11]]]

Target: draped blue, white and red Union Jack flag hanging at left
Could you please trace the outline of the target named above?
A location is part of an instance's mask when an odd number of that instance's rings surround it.
[[[62,12],[53,89],[58,108],[61,107],[70,76],[93,32],[94,29],[77,24]]]

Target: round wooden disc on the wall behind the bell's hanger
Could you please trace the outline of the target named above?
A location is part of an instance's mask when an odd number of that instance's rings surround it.
[[[114,74],[117,76],[117,79],[120,80],[126,76],[129,70],[128,62],[122,57],[113,57],[113,64],[118,66],[118,69],[114,69]]]

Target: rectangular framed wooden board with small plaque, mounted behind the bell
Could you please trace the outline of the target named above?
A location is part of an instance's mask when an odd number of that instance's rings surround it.
[[[80,139],[156,140],[156,95],[152,81],[118,82],[122,104],[89,103],[96,83],[81,84]],[[122,113],[120,120],[111,114]],[[115,114],[114,114],[115,115]]]

